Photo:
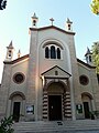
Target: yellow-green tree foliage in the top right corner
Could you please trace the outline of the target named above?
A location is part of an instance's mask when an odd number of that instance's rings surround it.
[[[91,7],[91,11],[95,14],[99,16],[99,0],[92,0],[92,2],[90,3],[90,7]]]

